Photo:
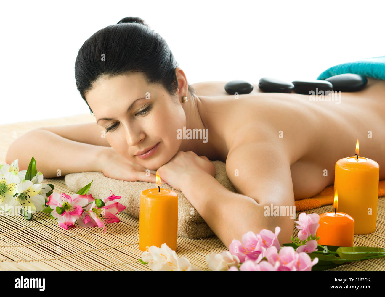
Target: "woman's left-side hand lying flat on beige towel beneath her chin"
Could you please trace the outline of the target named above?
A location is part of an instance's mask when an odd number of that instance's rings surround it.
[[[97,156],[97,163],[99,171],[111,179],[156,183],[155,174],[148,170],[146,172],[146,167],[122,157],[112,147],[102,148]]]

